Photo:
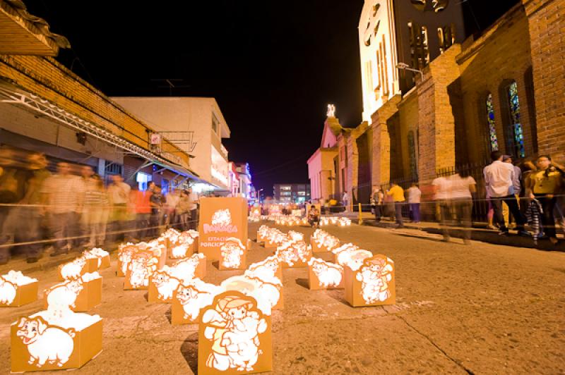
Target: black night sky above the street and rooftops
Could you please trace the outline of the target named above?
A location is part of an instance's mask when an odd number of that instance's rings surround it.
[[[465,1],[468,29],[484,29],[516,2]],[[173,95],[215,97],[232,131],[230,160],[248,161],[266,193],[273,183],[307,182],[328,103],[342,125],[361,121],[363,0],[25,4],[71,42],[59,61],[109,96],[167,96],[153,79],[179,78],[189,87]]]

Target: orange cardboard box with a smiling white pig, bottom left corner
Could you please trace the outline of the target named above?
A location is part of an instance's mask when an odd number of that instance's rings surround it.
[[[11,326],[11,371],[52,371],[83,367],[102,351],[102,319],[98,318],[90,326],[75,330],[50,325],[37,314],[21,317]],[[32,331],[33,328],[37,331]],[[32,342],[24,344],[25,336],[30,337]]]

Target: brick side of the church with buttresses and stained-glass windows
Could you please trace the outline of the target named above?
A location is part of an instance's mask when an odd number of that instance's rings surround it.
[[[373,3],[365,2],[360,25]],[[447,10],[452,2],[445,4]],[[523,0],[482,35],[440,46],[424,66],[410,64],[422,72],[412,75],[412,87],[400,82],[393,92],[391,85],[369,106],[364,93],[364,122],[338,135],[347,154],[340,158],[347,159],[343,185],[353,201],[367,203],[371,185],[427,185],[456,167],[474,168],[481,185],[480,170],[493,149],[517,159],[551,154],[563,161],[564,8],[564,0]],[[392,30],[398,35],[398,23]],[[362,51],[364,36],[359,29]],[[366,68],[362,61],[363,77]]]

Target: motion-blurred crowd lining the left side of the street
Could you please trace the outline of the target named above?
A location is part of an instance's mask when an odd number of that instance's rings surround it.
[[[47,169],[44,154],[0,149],[0,264],[22,247],[37,262],[46,247],[57,256],[83,247],[156,237],[165,228],[196,228],[198,196],[187,190],[167,195],[155,183],[146,190],[119,175],[104,180],[90,166],[61,161]]]

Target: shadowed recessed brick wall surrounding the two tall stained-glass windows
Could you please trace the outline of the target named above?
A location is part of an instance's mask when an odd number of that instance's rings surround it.
[[[518,85],[521,108],[521,125],[524,132],[526,156],[537,147],[534,104],[531,101],[531,68],[528,20],[521,4],[512,8],[480,38],[465,48],[457,62],[460,66],[460,90],[463,95],[464,128],[468,162],[489,159],[489,134],[486,100],[492,94],[494,121],[499,149],[511,153],[506,147],[506,131],[510,124],[507,86],[512,81]],[[458,109],[456,109],[457,111]],[[459,126],[459,125],[458,125]]]

